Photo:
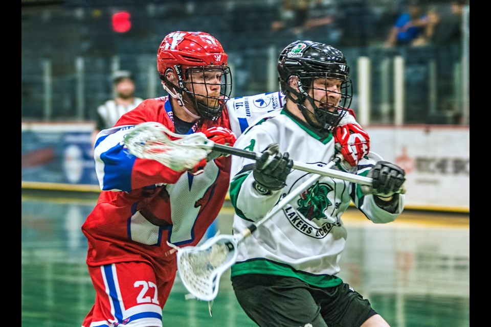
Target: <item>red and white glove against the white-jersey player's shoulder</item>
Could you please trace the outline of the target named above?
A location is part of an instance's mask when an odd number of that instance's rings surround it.
[[[352,167],[370,151],[370,137],[359,125],[346,124],[334,130],[334,140],[341,145],[344,160]]]

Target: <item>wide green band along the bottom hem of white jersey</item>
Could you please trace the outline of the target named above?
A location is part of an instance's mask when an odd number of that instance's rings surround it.
[[[298,278],[311,286],[317,287],[334,287],[343,283],[343,280],[337,276],[331,275],[313,275],[302,271],[295,271],[292,267],[280,265],[278,263],[254,259],[236,263],[231,267],[231,277],[244,274],[266,274]]]

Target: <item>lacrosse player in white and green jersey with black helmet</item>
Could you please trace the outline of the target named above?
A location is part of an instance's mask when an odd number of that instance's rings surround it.
[[[278,73],[285,106],[263,116],[234,145],[262,152],[257,161],[232,158],[234,233],[311,176],[292,169],[293,160],[325,166],[342,151],[348,165],[337,169],[371,177],[373,185],[322,176],[260,226],[241,244],[231,268],[237,300],[261,327],[388,326],[368,299],[337,276],[347,237],[341,217],[353,201],[374,223],[396,219],[404,208],[405,172],[366,151],[359,125],[341,123],[352,117],[349,67],[341,51],[293,42],[279,56]]]

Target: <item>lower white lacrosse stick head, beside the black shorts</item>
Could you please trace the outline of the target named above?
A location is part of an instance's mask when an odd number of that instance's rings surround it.
[[[195,298],[212,301],[218,294],[221,275],[237,260],[237,239],[218,235],[199,246],[177,249],[177,272]]]

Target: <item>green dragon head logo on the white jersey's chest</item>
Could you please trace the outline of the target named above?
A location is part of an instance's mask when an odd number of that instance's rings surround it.
[[[300,194],[297,201],[298,211],[308,220],[327,218],[325,209],[332,205],[327,199],[327,194],[332,191],[331,186],[319,182]]]

